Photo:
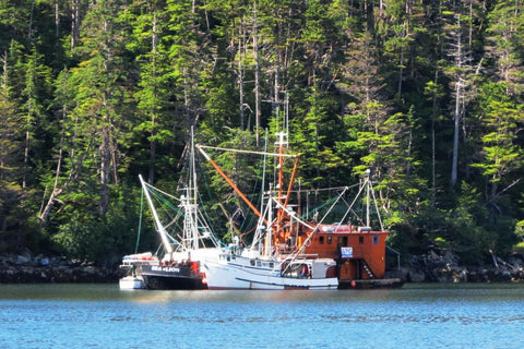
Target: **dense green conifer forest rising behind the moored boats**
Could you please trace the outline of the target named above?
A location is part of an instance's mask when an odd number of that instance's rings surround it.
[[[404,257],[438,248],[476,263],[522,248],[523,10],[1,0],[0,236],[107,264],[133,253],[142,221],[139,250],[154,249],[139,174],[179,195],[192,129],[201,144],[273,151],[284,125],[302,200],[319,204],[320,189],[334,194],[369,170]],[[226,154],[217,163],[251,191],[260,158]],[[227,243],[249,214],[198,158],[202,202]]]

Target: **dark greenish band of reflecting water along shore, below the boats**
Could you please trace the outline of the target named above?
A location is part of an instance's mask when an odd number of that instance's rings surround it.
[[[344,303],[384,301],[489,302],[522,299],[523,284],[409,284],[402,289],[326,290],[326,291],[122,291],[118,285],[104,284],[38,284],[0,285],[1,300],[124,301],[155,302],[235,302],[235,303]]]

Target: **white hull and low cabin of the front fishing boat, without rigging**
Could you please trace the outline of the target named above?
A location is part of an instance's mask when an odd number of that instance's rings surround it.
[[[251,262],[255,265],[251,266]],[[320,262],[321,263],[321,262]],[[257,264],[260,264],[258,266]],[[265,264],[265,266],[264,266]],[[270,266],[273,265],[273,268]],[[276,268],[275,268],[276,266]],[[257,290],[335,290],[336,277],[308,278],[298,275],[281,275],[278,263],[236,256],[227,261],[221,258],[204,263],[204,272],[210,289],[257,289]]]

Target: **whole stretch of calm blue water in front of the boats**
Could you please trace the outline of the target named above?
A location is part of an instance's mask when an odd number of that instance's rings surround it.
[[[0,348],[524,348],[524,286],[120,291],[0,285]]]

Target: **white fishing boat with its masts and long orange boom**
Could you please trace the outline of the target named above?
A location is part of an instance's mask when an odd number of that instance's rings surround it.
[[[287,156],[284,154],[286,136],[285,133],[278,134],[278,154],[264,154],[277,156],[279,165],[283,164],[282,158]],[[204,263],[209,288],[337,289],[336,262],[333,258],[319,258],[302,253],[309,237],[301,234],[299,239],[303,240],[298,243],[296,241],[294,248],[290,243],[286,244],[286,241],[297,237],[301,230],[300,226],[308,225],[290,210],[289,195],[283,191],[282,167],[278,171],[276,193],[272,189],[266,192],[263,209],[259,212],[211,159],[203,149],[204,146],[196,147],[259,216],[259,225],[249,248],[241,249],[237,240],[229,251],[219,255],[218,260]],[[298,157],[291,178],[295,177],[297,165]]]

